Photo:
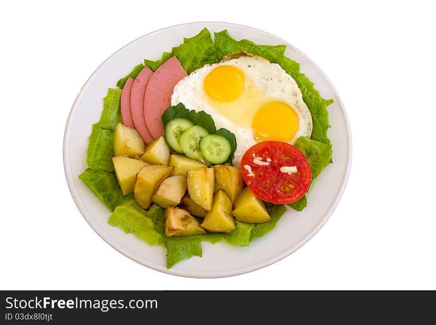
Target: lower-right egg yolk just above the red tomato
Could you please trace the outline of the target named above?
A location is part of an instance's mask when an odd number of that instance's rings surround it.
[[[259,141],[288,142],[298,131],[298,115],[284,103],[269,103],[259,109],[253,119],[253,136]]]

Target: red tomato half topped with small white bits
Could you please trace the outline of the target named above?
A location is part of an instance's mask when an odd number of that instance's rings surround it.
[[[296,167],[297,171],[282,172],[281,167]],[[296,146],[280,141],[253,145],[242,157],[241,171],[245,183],[257,197],[278,204],[299,200],[312,182],[312,169],[304,153]]]

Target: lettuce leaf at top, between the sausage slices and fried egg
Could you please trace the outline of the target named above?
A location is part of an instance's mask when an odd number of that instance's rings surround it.
[[[205,64],[218,62],[214,41],[212,40],[211,33],[206,28],[194,37],[183,38],[183,43],[173,47],[171,53],[164,52],[162,59],[157,61],[146,59],[144,63],[155,71],[172,56],[177,57],[188,75]]]

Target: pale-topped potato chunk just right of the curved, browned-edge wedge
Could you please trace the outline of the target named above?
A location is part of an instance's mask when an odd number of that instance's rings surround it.
[[[176,206],[186,192],[188,184],[186,176],[177,175],[168,177],[162,182],[158,190],[152,197],[152,201],[161,208],[166,209],[168,206]]]

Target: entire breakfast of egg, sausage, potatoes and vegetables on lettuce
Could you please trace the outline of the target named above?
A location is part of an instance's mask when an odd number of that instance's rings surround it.
[[[331,100],[285,47],[214,36],[203,29],[109,89],[79,176],[110,225],[166,247],[168,268],[201,256],[201,241],[247,246],[271,231],[331,162]]]

